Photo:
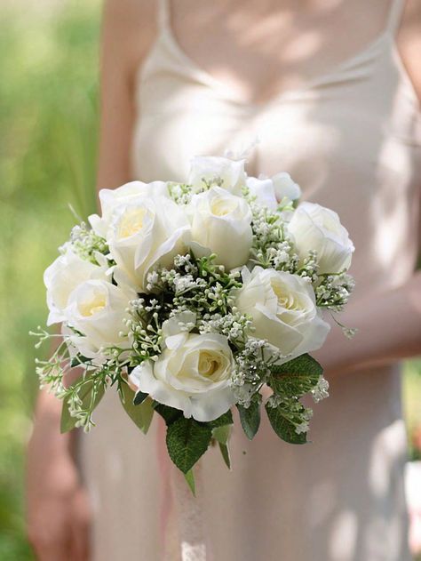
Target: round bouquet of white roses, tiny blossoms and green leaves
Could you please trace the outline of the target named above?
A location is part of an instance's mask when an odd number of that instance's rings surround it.
[[[255,436],[264,386],[274,432],[306,442],[312,410],[300,398],[328,396],[308,353],[330,330],[322,311],[343,309],[353,290],[353,244],[338,214],[297,204],[288,173],[249,177],[244,164],[197,156],[187,183],[101,190],[101,216],[73,228],[44,274],[48,325],[62,328],[37,373],[63,400],[62,431],[90,429],[114,387],[145,433],[163,417],[192,489],[212,441],[229,467],[233,407]],[[54,336],[36,335],[38,345]]]

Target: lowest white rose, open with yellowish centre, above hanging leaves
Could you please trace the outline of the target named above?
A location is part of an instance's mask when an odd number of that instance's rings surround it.
[[[234,357],[217,333],[179,333],[167,337],[163,354],[131,372],[139,391],[175,407],[196,421],[213,421],[234,405],[230,387]]]

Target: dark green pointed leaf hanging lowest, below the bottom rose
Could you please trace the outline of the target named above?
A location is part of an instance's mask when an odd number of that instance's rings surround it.
[[[206,452],[211,437],[211,427],[207,424],[180,417],[167,429],[167,448],[171,460],[183,473],[187,473]]]

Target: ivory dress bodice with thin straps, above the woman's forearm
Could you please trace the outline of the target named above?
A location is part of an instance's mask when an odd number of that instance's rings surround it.
[[[356,247],[358,290],[399,285],[416,259],[421,115],[394,41],[384,32],[331,71],[265,104],[239,100],[177,43],[162,3],[159,35],[139,68],[136,179],[186,180],[190,158],[258,138],[249,172],[290,172],[304,198],[336,210]]]

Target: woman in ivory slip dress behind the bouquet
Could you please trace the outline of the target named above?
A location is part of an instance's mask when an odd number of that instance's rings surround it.
[[[234,470],[211,451],[193,503],[156,445],[159,422],[142,437],[106,397],[79,477],[59,406],[42,395],[28,482],[42,561],[88,558],[84,485],[89,558],[101,561],[409,560],[396,361],[421,346],[421,6],[407,4],[107,1],[99,188],[183,180],[191,156],[258,136],[249,172],[287,170],[350,231],[357,289],[343,319],[359,333],[333,329],[319,353],[331,397],[313,444],[285,445],[266,421],[252,443],[237,430]]]

